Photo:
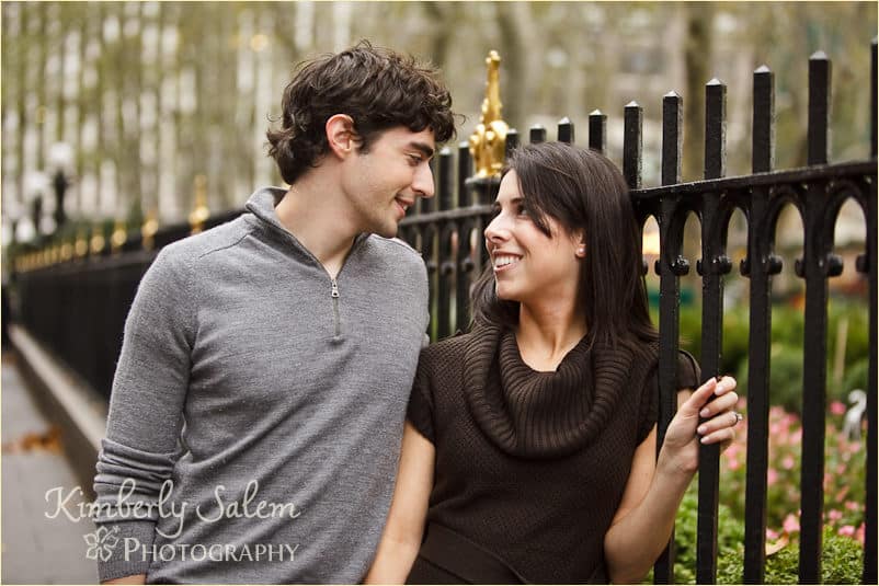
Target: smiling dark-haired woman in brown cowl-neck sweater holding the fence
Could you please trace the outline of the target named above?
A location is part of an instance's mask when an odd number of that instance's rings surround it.
[[[517,149],[486,228],[475,328],[422,352],[366,582],[637,583],[735,381],[681,393],[657,457],[657,333],[628,188],[605,157]],[[682,388],[698,386],[688,355]]]

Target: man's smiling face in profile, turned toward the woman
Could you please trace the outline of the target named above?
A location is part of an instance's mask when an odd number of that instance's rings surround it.
[[[435,146],[433,130],[413,133],[400,126],[346,161],[344,189],[361,231],[393,238],[406,210],[419,197],[433,196],[429,162]]]

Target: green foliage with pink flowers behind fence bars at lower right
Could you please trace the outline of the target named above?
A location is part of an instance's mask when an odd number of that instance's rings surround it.
[[[740,410],[744,405],[739,406]],[[842,435],[845,407],[830,404],[824,462],[822,575],[827,584],[856,584],[863,572],[866,458],[864,445]],[[747,418],[723,452],[718,504],[717,583],[740,584],[744,576],[744,493]],[[767,469],[767,584],[796,584],[799,560],[799,417],[778,406],[769,412]],[[698,478],[681,503],[675,525],[675,582],[695,584]],[[652,575],[648,576],[652,583]]]

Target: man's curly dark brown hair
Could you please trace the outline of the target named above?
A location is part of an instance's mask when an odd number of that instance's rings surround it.
[[[354,120],[361,152],[396,126],[430,128],[437,143],[455,135],[452,96],[437,70],[367,41],[300,64],[281,105],[281,128],[266,133],[269,156],[290,185],[327,153],[324,125],[334,114]]]

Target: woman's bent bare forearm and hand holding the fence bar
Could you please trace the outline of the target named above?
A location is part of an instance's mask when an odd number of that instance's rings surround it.
[[[640,582],[662,553],[681,499],[698,470],[699,443],[729,445],[734,436],[738,417],[732,409],[739,398],[733,389],[735,380],[730,377],[720,382],[710,379],[677,410],[659,458],[655,427],[636,449],[626,491],[604,538],[610,582]],[[707,421],[699,424],[699,417]]]

